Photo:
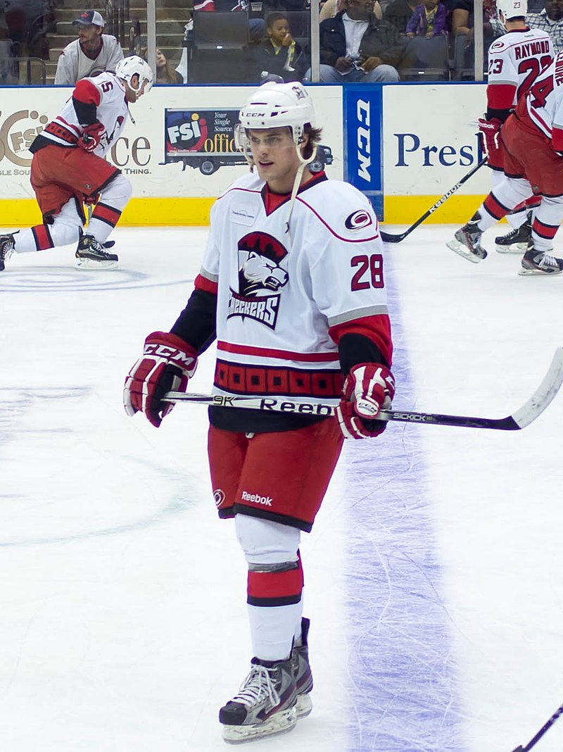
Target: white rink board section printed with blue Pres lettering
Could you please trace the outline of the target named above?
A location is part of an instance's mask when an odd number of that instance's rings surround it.
[[[446,193],[483,159],[477,119],[485,110],[483,84],[383,86],[386,197]],[[486,194],[490,181],[480,170],[459,193]]]

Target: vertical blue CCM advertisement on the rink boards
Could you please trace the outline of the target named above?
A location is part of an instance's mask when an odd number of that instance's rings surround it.
[[[369,197],[382,217],[382,86],[359,83],[343,88],[345,179]]]

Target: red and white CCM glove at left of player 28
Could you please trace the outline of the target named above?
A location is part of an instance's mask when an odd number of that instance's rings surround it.
[[[156,428],[174,405],[163,402],[166,392],[185,392],[195,373],[198,353],[175,334],[153,332],[144,341],[138,359],[123,387],[123,407],[128,415],[143,412]]]

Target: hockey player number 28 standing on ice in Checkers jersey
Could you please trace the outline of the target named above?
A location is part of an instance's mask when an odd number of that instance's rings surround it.
[[[226,741],[289,731],[310,713],[301,531],[309,532],[344,438],[369,438],[390,405],[392,339],[377,217],[358,190],[312,174],[320,129],[301,83],[265,83],[240,113],[252,165],[216,201],[195,290],[170,332],[153,332],[124,404],[159,426],[216,339],[213,392],[332,402],[336,417],[210,408],[208,453],[221,518],[247,561],[253,658],[219,711]]]

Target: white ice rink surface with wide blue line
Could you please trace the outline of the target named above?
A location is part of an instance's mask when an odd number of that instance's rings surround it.
[[[393,406],[504,417],[563,345],[563,276],[519,277],[519,256],[494,250],[473,265],[452,233],[387,246]],[[246,567],[216,518],[206,411],[177,405],[156,430],[121,405],[206,234],[117,229],[114,271],[79,271],[66,247],[0,275],[6,752],[228,748],[217,711],[249,668]],[[210,352],[192,390],[212,374]],[[518,432],[394,423],[347,444],[301,548],[313,714],[244,748],[525,744],[563,703],[561,438],[563,394]],[[561,749],[563,720],[534,752]]]

